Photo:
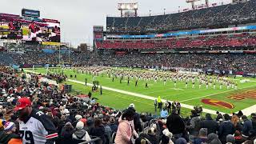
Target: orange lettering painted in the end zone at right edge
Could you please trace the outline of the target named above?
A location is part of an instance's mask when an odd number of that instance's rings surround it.
[[[232,94],[232,95],[228,96],[227,98],[238,100],[238,101],[241,101],[246,98],[256,99],[256,90],[247,90],[242,93]]]

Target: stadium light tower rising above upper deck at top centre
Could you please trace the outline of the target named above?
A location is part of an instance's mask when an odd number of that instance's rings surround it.
[[[123,11],[133,11],[134,16],[138,17],[138,3],[118,3],[118,10],[121,12],[121,17],[124,16]]]

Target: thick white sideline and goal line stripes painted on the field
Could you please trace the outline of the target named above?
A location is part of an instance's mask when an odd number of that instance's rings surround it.
[[[31,73],[34,73],[34,74],[41,74],[41,73],[38,73],[38,72],[35,72],[35,71],[31,71],[31,70],[26,70],[27,72],[31,72]],[[67,79],[67,81],[70,81],[70,82],[75,82],[75,83],[80,83],[82,85],[85,85],[86,82],[81,82],[81,81],[77,81],[77,80],[72,80],[72,79]],[[93,86],[93,84],[90,84],[90,83],[87,83],[87,85],[89,86]],[[242,90],[242,89],[246,89],[246,88],[249,88],[249,87],[254,87],[254,86],[248,86],[248,87],[243,87],[243,88],[239,88],[238,90]],[[129,92],[129,91],[125,91],[125,90],[118,90],[118,89],[113,89],[113,88],[110,88],[110,87],[106,87],[106,86],[102,86],[103,89],[106,89],[106,90],[111,90],[111,91],[115,91],[115,92],[118,92],[118,93],[122,93],[122,94],[129,94],[129,95],[132,95],[132,96],[135,96],[135,97],[139,97],[139,98],[146,98],[146,99],[150,99],[150,100],[153,100],[156,99],[154,97],[150,97],[150,96],[147,96],[147,95],[143,95],[143,94],[136,94],[136,93],[133,93],[133,92]],[[226,92],[230,92],[230,91],[233,91],[233,90],[227,90],[227,91],[223,91],[223,92],[220,92],[220,93],[216,93],[216,94],[222,94],[222,93],[226,93]],[[202,97],[198,97],[198,98],[205,98],[205,97],[209,97],[211,95],[215,95],[215,94],[208,94],[208,95],[205,95],[205,96],[202,96]],[[193,99],[198,99],[198,98],[190,98],[188,100],[184,100],[184,101],[181,101],[181,102],[186,102],[186,101],[189,101],[189,100],[193,100]],[[169,101],[169,100],[168,100]],[[166,102],[166,99],[162,99],[162,102]],[[169,102],[172,102],[172,101],[169,101]],[[185,107],[187,109],[190,109],[190,110],[194,110],[194,106],[190,106],[190,105],[187,105],[187,104],[183,104],[181,103],[182,107]],[[254,105],[256,107],[256,105]],[[243,109],[243,110],[246,110],[247,111],[250,111],[248,110],[249,108],[251,109],[253,106],[250,106],[250,107],[247,107],[246,109]],[[242,110],[242,111],[243,111]],[[209,109],[206,109],[206,108],[203,108],[202,109],[203,112],[205,113],[210,113],[210,114],[216,114],[216,111],[217,110],[209,110]],[[221,114],[226,114],[224,112],[221,112],[219,111]],[[250,114],[246,114],[247,116],[250,115]]]

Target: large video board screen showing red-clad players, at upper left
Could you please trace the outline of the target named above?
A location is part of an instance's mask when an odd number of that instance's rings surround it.
[[[60,22],[52,19],[6,17],[0,14],[0,39],[56,44],[61,42]]]

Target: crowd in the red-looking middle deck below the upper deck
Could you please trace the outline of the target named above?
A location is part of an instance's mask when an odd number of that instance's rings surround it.
[[[138,41],[103,41],[97,42],[102,49],[178,49],[178,48],[209,48],[255,46],[256,37],[252,34],[234,34],[218,36],[202,36],[198,38],[169,38]]]

